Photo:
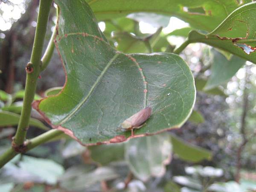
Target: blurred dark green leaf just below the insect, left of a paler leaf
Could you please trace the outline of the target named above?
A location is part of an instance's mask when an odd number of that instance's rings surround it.
[[[113,161],[124,159],[123,143],[91,146],[89,150],[91,158],[101,165],[107,165]]]

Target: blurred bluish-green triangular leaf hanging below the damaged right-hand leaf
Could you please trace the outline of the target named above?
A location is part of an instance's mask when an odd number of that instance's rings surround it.
[[[227,60],[224,55],[214,49],[212,54],[211,76],[207,80],[204,90],[210,90],[228,81],[245,64],[244,59],[235,55]]]

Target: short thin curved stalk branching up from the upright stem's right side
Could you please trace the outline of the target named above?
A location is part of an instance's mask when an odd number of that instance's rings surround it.
[[[57,18],[58,18],[58,7],[57,7]],[[55,48],[55,44],[54,44],[54,38],[56,36],[56,32],[57,32],[57,21],[56,21],[56,24],[55,24],[55,27],[54,27],[54,30],[52,32],[52,36],[49,40],[49,43],[47,45],[47,49],[45,50],[44,52],[44,55],[41,59],[41,62],[42,62],[42,66],[41,66],[41,71],[45,70],[47,65],[49,64],[51,58],[52,58],[52,54],[53,54],[53,51],[54,51],[54,48]]]

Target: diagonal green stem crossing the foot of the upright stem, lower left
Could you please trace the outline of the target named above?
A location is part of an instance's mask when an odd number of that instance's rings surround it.
[[[26,143],[26,151],[29,151],[32,148],[35,148],[38,145],[41,145],[43,143],[47,143],[48,141],[60,136],[63,134],[62,131],[59,131],[57,129],[52,129],[50,131],[47,131],[31,140],[28,140]],[[24,151],[24,152],[26,152]],[[14,151],[13,148],[9,148],[7,151],[5,151],[0,156],[0,168],[2,168],[6,163],[8,163],[13,157],[15,157],[18,154],[18,152]]]

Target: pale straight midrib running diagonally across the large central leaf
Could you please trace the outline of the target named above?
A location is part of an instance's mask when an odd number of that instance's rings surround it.
[[[65,122],[67,122],[67,120],[70,119],[71,116],[73,116],[80,108],[81,106],[87,101],[87,99],[89,98],[89,96],[91,95],[91,93],[93,93],[93,91],[95,90],[97,84],[99,84],[99,81],[102,79],[102,77],[104,76],[104,74],[106,73],[106,71],[108,70],[108,68],[111,66],[111,64],[113,64],[113,61],[120,55],[120,53],[116,53],[111,60],[108,62],[108,64],[106,65],[106,67],[102,70],[102,73],[99,75],[99,77],[96,79],[96,81],[94,82],[93,86],[91,87],[89,93],[87,94],[87,96],[84,97],[84,99],[79,102],[79,105],[76,106],[76,108],[69,113],[69,115],[67,115],[61,122],[60,124],[63,124]]]

